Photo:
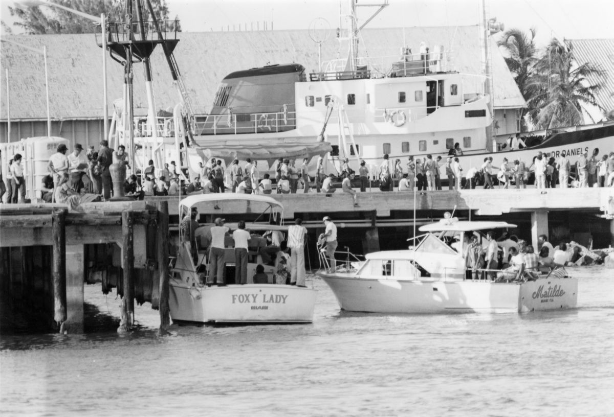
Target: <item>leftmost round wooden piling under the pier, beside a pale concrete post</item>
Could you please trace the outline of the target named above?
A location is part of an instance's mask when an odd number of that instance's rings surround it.
[[[66,209],[52,212],[53,321],[63,333],[66,321]]]

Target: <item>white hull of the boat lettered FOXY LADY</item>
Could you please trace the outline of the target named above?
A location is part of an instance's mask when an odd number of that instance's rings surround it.
[[[172,280],[169,308],[173,323],[311,323],[316,294],[290,285],[198,287]]]

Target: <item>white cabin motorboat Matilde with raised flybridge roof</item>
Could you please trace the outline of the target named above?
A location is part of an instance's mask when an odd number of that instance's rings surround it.
[[[334,272],[317,275],[330,286],[343,310],[376,313],[532,312],[574,308],[578,280],[564,269],[537,280],[467,279],[465,261],[446,243],[454,235],[515,228],[499,221],[453,221],[422,226],[408,250],[381,251],[363,262],[345,262]]]

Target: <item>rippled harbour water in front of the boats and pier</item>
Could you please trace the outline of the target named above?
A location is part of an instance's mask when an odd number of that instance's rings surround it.
[[[149,304],[138,331],[109,329],[120,300],[88,286],[96,332],[2,337],[0,413],[612,416],[614,270],[570,271],[577,310],[342,313],[314,278],[311,325],[171,326],[164,337]]]

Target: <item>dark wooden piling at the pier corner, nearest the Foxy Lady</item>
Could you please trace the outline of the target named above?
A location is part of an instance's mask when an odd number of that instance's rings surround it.
[[[160,277],[160,332],[168,331],[171,317],[168,307],[168,201],[158,202],[157,258]]]

